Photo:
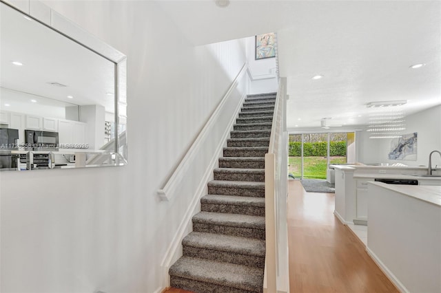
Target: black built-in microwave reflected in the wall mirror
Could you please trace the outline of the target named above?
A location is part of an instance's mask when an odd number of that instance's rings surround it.
[[[58,132],[25,129],[25,146],[30,151],[58,151]]]

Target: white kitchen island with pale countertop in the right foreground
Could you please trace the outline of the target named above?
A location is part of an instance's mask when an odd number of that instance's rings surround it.
[[[367,252],[402,292],[441,292],[441,186],[369,182]]]

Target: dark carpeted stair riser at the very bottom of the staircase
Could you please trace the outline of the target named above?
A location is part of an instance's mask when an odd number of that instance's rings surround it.
[[[247,291],[232,287],[225,287],[223,285],[216,285],[202,281],[185,279],[178,276],[170,276],[170,286],[181,288],[183,290],[198,292],[198,293],[261,293],[263,291]]]

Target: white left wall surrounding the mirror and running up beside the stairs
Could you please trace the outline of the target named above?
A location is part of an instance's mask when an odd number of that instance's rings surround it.
[[[152,1],[44,2],[127,54],[129,165],[0,173],[0,290],[155,292],[198,178],[183,178],[171,202],[156,190],[245,63],[245,45],[192,47]]]

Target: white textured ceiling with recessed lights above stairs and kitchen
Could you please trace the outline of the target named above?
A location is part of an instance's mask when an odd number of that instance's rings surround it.
[[[372,101],[407,100],[407,114],[441,104],[440,1],[158,3],[195,45],[277,32],[291,131],[366,124]]]

